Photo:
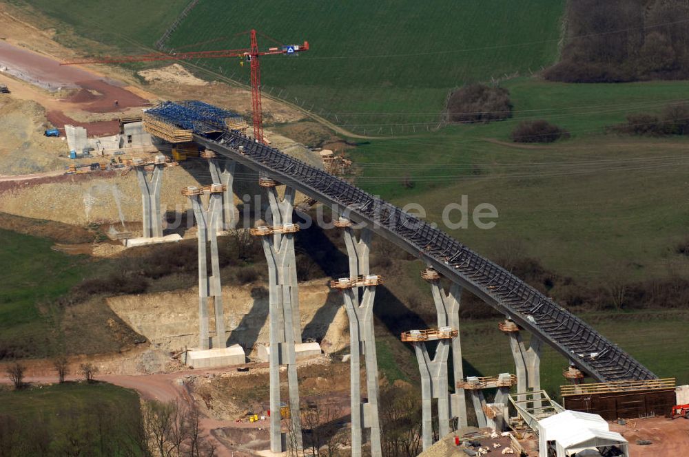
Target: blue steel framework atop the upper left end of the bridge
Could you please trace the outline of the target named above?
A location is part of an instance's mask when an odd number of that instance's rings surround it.
[[[196,134],[227,129],[225,120],[237,118],[239,114],[203,103],[199,100],[163,102],[148,109],[146,114],[180,129],[192,130]]]

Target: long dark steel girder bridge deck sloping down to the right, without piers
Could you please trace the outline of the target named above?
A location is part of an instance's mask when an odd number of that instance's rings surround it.
[[[175,125],[174,119],[169,123]],[[238,131],[195,131],[200,145],[327,204],[419,257],[601,382],[657,376],[571,312],[443,231],[349,182]]]

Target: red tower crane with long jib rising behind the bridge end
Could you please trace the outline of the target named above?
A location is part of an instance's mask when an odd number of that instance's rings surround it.
[[[246,33],[246,32],[245,32]],[[256,30],[251,30],[251,47],[248,49],[217,50],[217,51],[193,51],[193,52],[172,52],[165,54],[155,52],[152,54],[139,54],[135,56],[107,56],[99,59],[77,59],[74,61],[63,62],[60,65],[80,65],[84,63],[130,63],[147,61],[178,61],[189,59],[221,59],[226,57],[240,57],[251,63],[251,111],[254,116],[254,138],[259,142],[263,140],[263,114],[261,111],[260,93],[260,63],[258,56],[269,54],[296,55],[299,52],[309,50],[309,42],[305,41],[302,45],[280,45],[279,47],[269,47],[267,51],[258,50],[258,40]],[[244,61],[242,61],[242,64]]]

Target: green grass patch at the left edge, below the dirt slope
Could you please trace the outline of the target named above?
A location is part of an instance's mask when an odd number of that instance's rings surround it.
[[[54,323],[39,307],[65,293],[88,274],[88,259],[52,251],[45,238],[0,230],[0,347],[21,357],[26,348],[54,343]]]

